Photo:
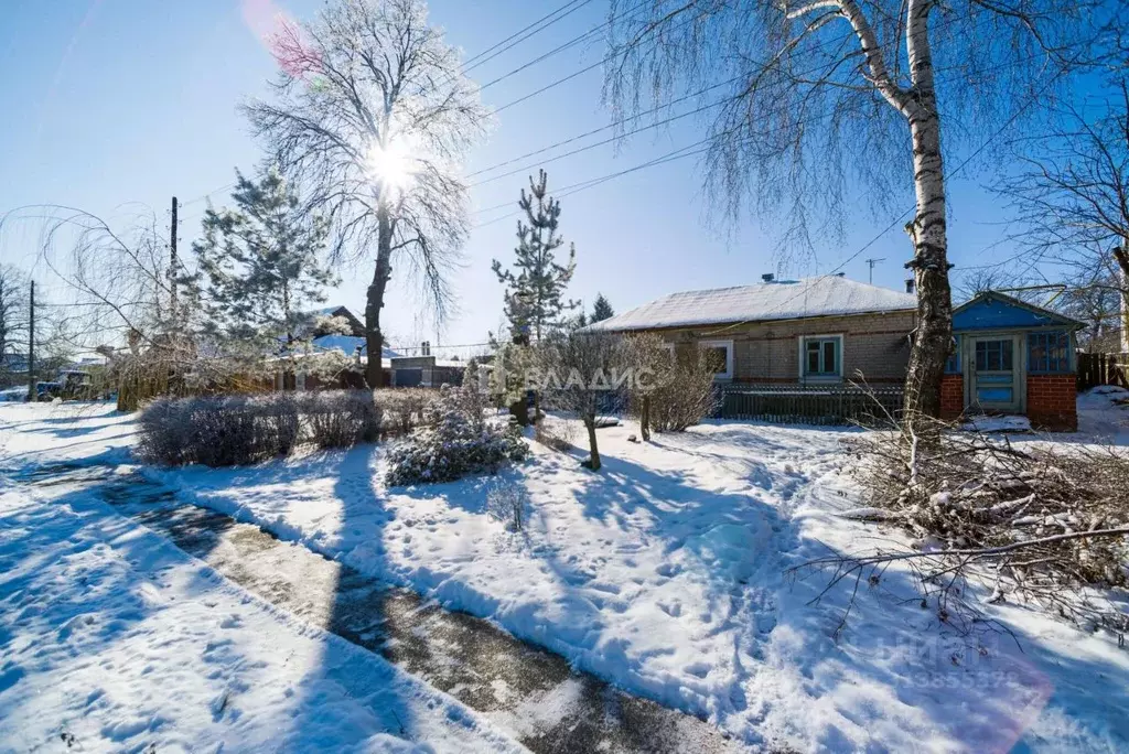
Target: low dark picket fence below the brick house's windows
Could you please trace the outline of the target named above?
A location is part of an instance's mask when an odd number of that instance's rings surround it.
[[[844,385],[730,385],[723,389],[721,419],[785,424],[889,424],[902,411],[901,387]]]

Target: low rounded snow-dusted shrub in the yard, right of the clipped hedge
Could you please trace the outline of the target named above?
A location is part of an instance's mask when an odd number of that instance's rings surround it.
[[[386,481],[392,485],[449,482],[466,474],[496,473],[507,461],[530,453],[520,430],[482,422],[462,410],[464,388],[445,388],[427,411],[425,424],[388,453]]]

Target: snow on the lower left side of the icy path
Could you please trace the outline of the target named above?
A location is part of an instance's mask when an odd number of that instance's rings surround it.
[[[9,449],[37,442],[12,427],[7,406],[0,417]],[[0,456],[9,471],[27,465]],[[61,745],[524,751],[454,699],[250,596],[94,494],[0,476],[0,751]]]

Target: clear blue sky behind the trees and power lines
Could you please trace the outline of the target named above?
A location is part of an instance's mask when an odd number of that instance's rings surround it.
[[[264,5],[263,0],[253,5]],[[280,0],[292,16],[312,17],[317,0]],[[558,0],[432,0],[432,21],[448,40],[474,55],[561,5]],[[484,84],[598,24],[604,0],[588,3],[546,32],[472,71]],[[499,106],[528,94],[602,54],[597,45],[574,49],[489,87],[483,100]],[[6,0],[0,25],[0,212],[33,203],[60,203],[125,221],[137,204],[167,221],[169,198],[184,204],[180,229],[186,249],[199,231],[204,195],[251,170],[261,152],[236,113],[247,97],[265,94],[274,71],[259,32],[239,0]],[[501,113],[490,140],[475,150],[467,172],[606,125],[599,103],[598,68],[551,93]],[[634,137],[619,148],[593,149],[548,164],[550,187],[627,169],[698,141],[702,123],[688,119],[672,130]],[[606,134],[603,134],[606,135]],[[602,137],[594,138],[597,140]],[[588,141],[580,142],[588,143]],[[570,148],[577,144],[571,144]],[[551,155],[549,156],[551,157]],[[524,163],[517,164],[517,167]],[[700,164],[682,159],[610,181],[562,201],[561,228],[576,244],[574,298],[590,307],[597,291],[618,310],[676,290],[755,282],[777,271],[776,218],[750,218],[733,233],[706,223],[707,198]],[[1005,235],[1001,200],[980,187],[986,175],[972,164],[951,187],[949,255],[959,266],[1009,256],[1007,244],[986,252]],[[475,186],[475,208],[516,202],[523,175]],[[226,192],[212,194],[224,203]],[[907,176],[904,202],[912,202]],[[787,264],[782,272],[826,272],[855,254],[894,218],[872,213],[860,190],[856,218],[841,242],[815,249],[815,260]],[[515,204],[516,209],[516,204]],[[478,212],[484,223],[506,211]],[[385,319],[396,344],[427,337],[447,344],[479,343],[501,316],[501,287],[490,271],[508,261],[515,219],[472,231],[465,266],[456,275],[458,313],[437,333],[409,287],[395,286]],[[25,223],[0,237],[0,260],[30,265],[37,228]],[[866,280],[867,257],[885,257],[874,281],[900,288],[910,246],[898,223],[866,253],[846,265]],[[65,292],[40,265],[37,279],[55,299]],[[366,268],[343,271],[331,292],[358,314],[364,309]]]

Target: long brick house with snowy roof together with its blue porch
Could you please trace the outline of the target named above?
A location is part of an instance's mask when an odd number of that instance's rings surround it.
[[[716,351],[727,391],[794,385],[805,391],[863,380],[905,382],[917,297],[843,275],[688,291],[589,325],[589,332],[655,332],[672,352]],[[1038,428],[1074,430],[1075,336],[1080,323],[1001,293],[953,315],[955,351],[942,412],[1025,414]]]

